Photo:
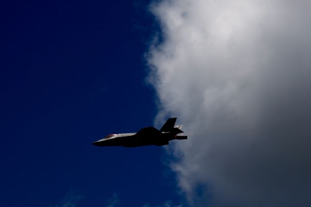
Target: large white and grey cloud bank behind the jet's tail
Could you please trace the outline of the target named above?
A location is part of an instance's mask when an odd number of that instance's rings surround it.
[[[310,206],[311,1],[162,0],[148,61],[190,205]],[[164,120],[163,120],[164,121]]]

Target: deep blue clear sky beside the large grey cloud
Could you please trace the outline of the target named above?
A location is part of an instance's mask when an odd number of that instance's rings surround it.
[[[0,206],[179,202],[157,146],[99,148],[153,125],[149,1],[2,1]]]

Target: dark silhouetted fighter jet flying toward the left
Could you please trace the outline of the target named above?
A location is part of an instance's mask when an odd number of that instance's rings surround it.
[[[183,125],[175,125],[177,118],[168,119],[160,130],[154,127],[145,127],[137,133],[110,134],[105,138],[95,141],[96,146],[123,146],[123,147],[139,147],[146,145],[162,146],[169,144],[173,139],[187,139],[187,136],[177,136],[183,133],[181,128]]]

